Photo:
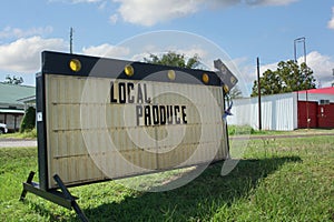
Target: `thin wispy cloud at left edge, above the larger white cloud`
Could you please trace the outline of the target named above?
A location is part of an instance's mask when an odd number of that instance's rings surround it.
[[[6,27],[2,31],[0,31],[0,39],[9,39],[9,38],[20,39],[20,38],[32,37],[32,36],[43,36],[43,34],[49,34],[52,31],[53,29],[50,26],[45,28],[41,27],[31,28],[27,30]]]

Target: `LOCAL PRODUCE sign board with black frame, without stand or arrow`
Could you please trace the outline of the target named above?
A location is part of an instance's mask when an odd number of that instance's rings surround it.
[[[73,58],[79,71],[69,65]],[[170,78],[170,68],[132,63],[127,75],[120,67],[128,61],[99,62],[43,52],[37,78],[42,189],[57,188],[56,173],[66,185],[80,185],[227,157],[223,88],[202,79],[214,81],[213,72],[176,69]]]

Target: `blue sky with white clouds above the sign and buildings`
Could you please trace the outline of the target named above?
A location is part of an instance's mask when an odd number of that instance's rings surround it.
[[[213,63],[210,48],[195,47],[200,37],[225,51],[248,87],[256,78],[256,57],[262,71],[275,69],[294,58],[294,40],[305,37],[307,64],[318,83],[334,81],[333,0],[12,0],[1,3],[0,14],[0,81],[16,74],[33,85],[42,50],[69,52],[70,27],[75,53],[140,60],[156,51],[135,54],[129,39],[175,30],[197,36],[190,38],[194,48],[175,43],[168,49]],[[303,54],[297,43],[298,61]]]

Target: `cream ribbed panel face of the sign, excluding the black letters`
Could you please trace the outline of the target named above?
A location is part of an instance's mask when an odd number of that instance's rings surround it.
[[[129,104],[110,103],[114,80],[46,78],[50,188],[56,185],[51,178],[55,173],[66,184],[77,184],[227,157],[219,87],[146,82],[147,94],[154,95],[150,104]],[[136,105],[155,104],[186,107],[187,123],[141,125],[140,119],[138,125]]]

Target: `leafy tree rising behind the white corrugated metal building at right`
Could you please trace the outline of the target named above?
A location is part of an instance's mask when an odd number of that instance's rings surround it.
[[[277,94],[298,90],[315,89],[313,71],[305,63],[298,65],[295,61],[281,61],[275,71],[266,70],[259,78],[261,94]],[[258,94],[258,82],[254,81],[252,97]]]

